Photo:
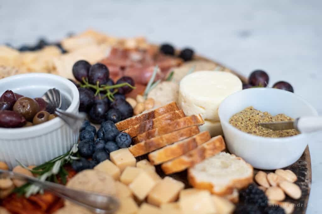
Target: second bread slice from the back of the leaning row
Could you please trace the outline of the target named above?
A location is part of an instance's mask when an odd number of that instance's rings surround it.
[[[138,125],[132,126],[131,128],[124,130],[123,132],[128,133],[133,138],[138,134],[142,134],[151,129],[155,129],[163,125],[169,124],[172,121],[183,117],[185,117],[185,113],[183,112],[183,110],[172,111],[154,119],[147,120]]]

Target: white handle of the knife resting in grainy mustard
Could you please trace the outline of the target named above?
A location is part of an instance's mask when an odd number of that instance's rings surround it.
[[[322,117],[300,117],[294,121],[294,127],[301,133],[322,131]]]

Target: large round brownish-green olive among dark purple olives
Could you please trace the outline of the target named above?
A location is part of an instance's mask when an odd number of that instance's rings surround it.
[[[14,103],[13,110],[26,118],[27,121],[32,121],[33,117],[39,112],[39,105],[36,100],[29,97],[17,99]]]

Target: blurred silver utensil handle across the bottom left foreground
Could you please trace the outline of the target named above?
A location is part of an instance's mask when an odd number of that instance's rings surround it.
[[[61,198],[67,199],[77,205],[83,206],[94,213],[114,213],[119,208],[118,200],[110,195],[74,190],[61,184],[56,184],[48,181],[40,181],[39,179],[31,176],[1,169],[0,178],[27,180],[28,182],[38,185]]]

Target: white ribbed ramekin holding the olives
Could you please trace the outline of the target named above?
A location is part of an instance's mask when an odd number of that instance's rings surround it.
[[[71,101],[67,112],[78,113],[79,92],[69,80],[47,73],[29,73],[0,80],[0,96],[5,90],[26,97],[41,97],[48,89],[56,88]],[[62,119],[25,128],[0,128],[0,161],[10,168],[18,165],[40,165],[71,149],[78,140],[78,130],[72,131]]]

